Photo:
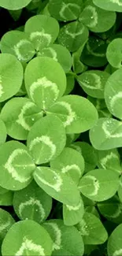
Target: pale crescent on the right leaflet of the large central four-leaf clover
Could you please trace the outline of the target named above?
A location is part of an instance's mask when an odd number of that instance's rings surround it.
[[[63,122],[64,126],[68,126],[72,124],[72,121],[76,119],[76,113],[72,111],[72,107],[68,102],[57,102],[57,105],[65,107],[65,109],[68,111],[68,117],[65,122]]]

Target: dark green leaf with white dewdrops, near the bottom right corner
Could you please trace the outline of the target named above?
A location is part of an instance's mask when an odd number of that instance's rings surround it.
[[[84,213],[83,219],[77,224],[77,228],[81,236],[83,236],[83,242],[85,244],[105,243],[108,238],[102,222],[91,213]]]

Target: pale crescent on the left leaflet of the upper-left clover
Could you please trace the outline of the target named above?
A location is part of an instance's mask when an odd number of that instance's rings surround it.
[[[26,61],[27,58],[20,54],[20,47],[25,46],[27,43],[30,43],[27,39],[21,39],[16,46],[13,46],[13,50],[15,51],[15,54],[17,54],[17,58],[22,61]],[[32,54],[35,54],[34,50],[31,50]],[[28,54],[27,54],[28,56]]]

